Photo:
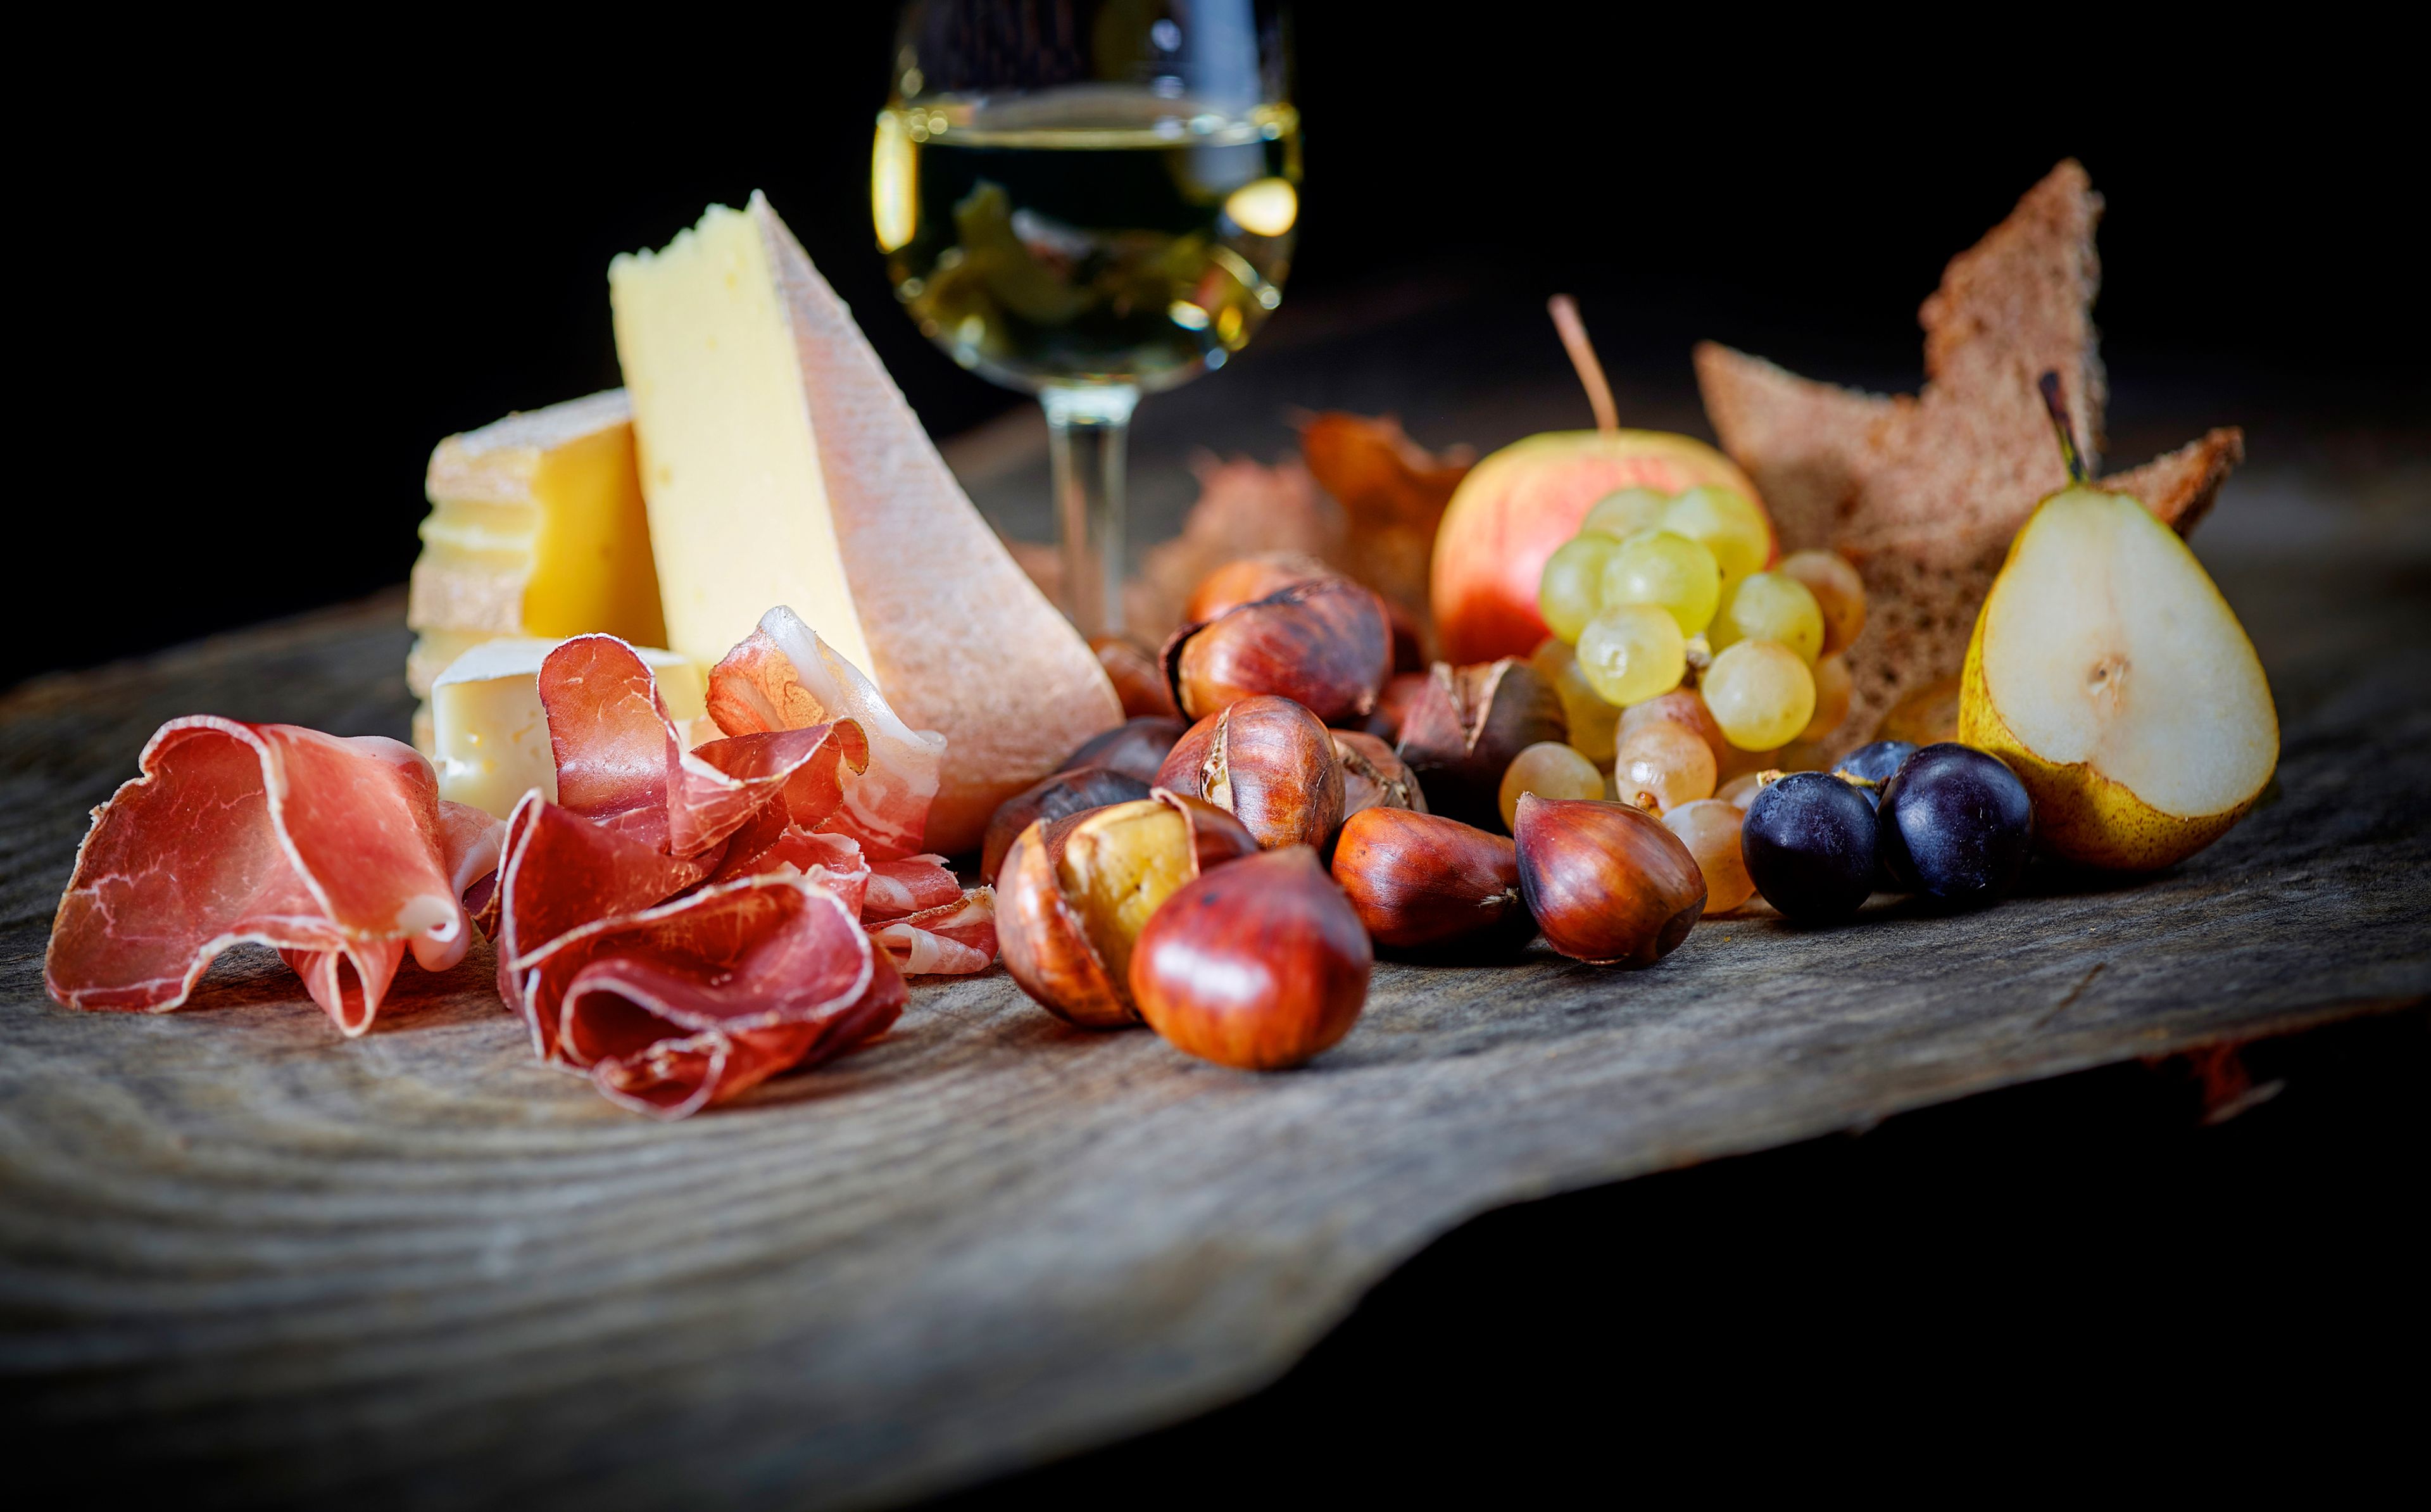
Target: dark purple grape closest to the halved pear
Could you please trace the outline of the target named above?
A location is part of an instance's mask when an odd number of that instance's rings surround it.
[[[2018,885],[2032,848],[2035,800],[1989,751],[1925,746],[1882,790],[1882,863],[1911,892],[1993,902]]]

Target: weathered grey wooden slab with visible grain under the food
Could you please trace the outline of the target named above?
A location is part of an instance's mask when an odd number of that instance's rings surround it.
[[[2322,489],[2241,481],[2224,518],[2256,525],[2205,537],[2285,758],[2178,870],[1707,921],[1646,972],[1386,965],[1352,1038],[1276,1077],[1070,1031],[1002,972],[678,1125],[535,1065],[484,948],[408,965],[355,1043],[263,950],[190,1011],[70,1014],[51,907],[143,737],[194,710],[404,734],[406,634],[382,598],[19,688],[7,1417],[214,1500],[890,1500],[1247,1393],[1497,1203],[2421,1002],[2424,532]]]

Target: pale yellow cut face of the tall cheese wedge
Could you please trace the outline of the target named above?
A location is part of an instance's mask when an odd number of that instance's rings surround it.
[[[788,605],[870,671],[802,362],[754,219],[710,207],[666,250],[610,263],[608,292],[642,430],[666,644],[715,664]]]

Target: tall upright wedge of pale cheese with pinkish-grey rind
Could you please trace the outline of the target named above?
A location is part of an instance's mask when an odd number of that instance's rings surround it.
[[[946,472],[761,194],[608,267],[666,644],[715,664],[775,605],[946,737],[931,851],[1123,717],[1096,654]]]

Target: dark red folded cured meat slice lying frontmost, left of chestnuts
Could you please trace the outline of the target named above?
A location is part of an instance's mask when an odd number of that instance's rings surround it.
[[[513,967],[557,1060],[661,1118],[848,1050],[904,1002],[834,892],[775,875],[586,924]]]

